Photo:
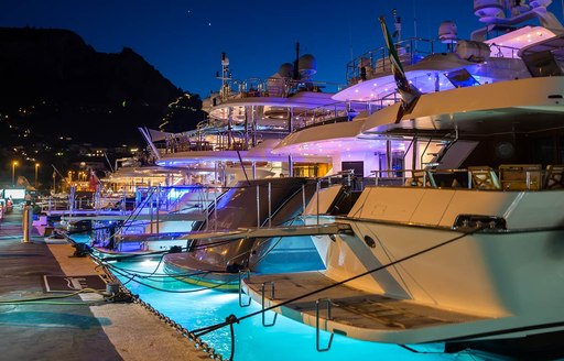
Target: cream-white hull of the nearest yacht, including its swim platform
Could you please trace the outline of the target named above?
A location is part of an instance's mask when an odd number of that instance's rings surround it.
[[[339,286],[339,292],[327,289],[306,298],[311,303],[299,300],[278,310],[315,327],[315,300],[329,298],[334,317],[325,319],[323,310],[322,329],[392,343],[513,338],[564,329],[564,230],[558,229],[564,192],[372,187],[356,205],[348,217],[337,219],[349,223],[355,236],[314,238],[318,249],[327,249],[325,272],[302,283],[305,274],[251,277],[252,297],[260,303],[260,285],[274,282],[275,298],[269,299],[270,292],[265,296],[275,305],[381,267]],[[454,228],[459,215],[501,217],[507,230],[464,236],[473,229]],[[360,316],[356,297],[367,300]],[[402,320],[417,321],[398,327],[398,318],[381,317],[382,304]]]

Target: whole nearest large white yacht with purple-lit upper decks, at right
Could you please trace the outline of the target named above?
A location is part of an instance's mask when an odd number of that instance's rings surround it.
[[[326,187],[304,214],[351,232],[313,238],[326,270],[253,275],[250,296],[369,341],[562,357],[564,30],[551,2],[475,0],[485,26],[468,41],[446,22],[438,42],[351,62],[333,99],[366,111],[295,129],[273,150],[355,171],[361,193]],[[401,70],[421,92],[411,107]]]

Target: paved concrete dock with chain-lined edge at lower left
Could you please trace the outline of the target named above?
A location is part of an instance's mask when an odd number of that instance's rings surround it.
[[[210,359],[139,303],[104,302],[97,294],[24,302],[62,295],[46,292],[45,276],[100,271],[88,256],[73,256],[75,249],[65,240],[32,233],[23,243],[22,234],[22,210],[14,208],[0,220],[1,360]]]

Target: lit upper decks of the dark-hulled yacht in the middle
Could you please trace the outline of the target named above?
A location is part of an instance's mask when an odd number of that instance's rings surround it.
[[[314,109],[329,109],[315,114],[316,119],[349,114],[332,99],[338,85],[313,79],[316,61],[312,55],[296,56],[293,65],[282,64],[265,79],[234,79],[225,53],[221,67],[220,90],[203,105],[209,118],[196,130],[165,134],[161,146],[152,144],[147,132],[158,165],[184,167],[193,183],[223,186],[241,179],[323,176],[330,171],[324,155],[271,152]]]

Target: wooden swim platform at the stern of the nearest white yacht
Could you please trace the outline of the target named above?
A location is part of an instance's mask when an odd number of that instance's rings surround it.
[[[319,272],[304,272],[299,274],[251,275],[245,280],[245,284],[251,296],[259,303],[261,303],[264,284],[264,297],[270,302],[264,307],[268,307],[328,287],[335,282]],[[274,298],[270,297],[272,295],[271,287],[274,288],[272,291]],[[330,302],[330,319],[328,320],[326,317],[327,304],[321,302],[322,299]],[[367,293],[347,285],[338,285],[292,302],[284,305],[281,313],[315,327],[317,300],[319,300],[319,325],[322,329],[372,341],[404,343],[405,341],[402,341],[402,335],[399,331],[486,319],[476,315],[460,314],[419,305],[410,300]],[[382,332],[389,335],[386,336]],[[427,333],[416,335],[421,338],[417,341],[433,341],[433,339],[424,339],[425,335]],[[414,336],[415,333],[412,335],[412,337]],[[437,337],[437,335],[431,332],[426,337]]]

